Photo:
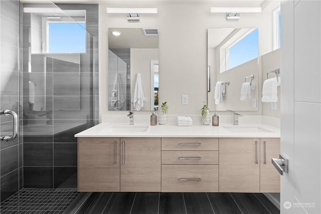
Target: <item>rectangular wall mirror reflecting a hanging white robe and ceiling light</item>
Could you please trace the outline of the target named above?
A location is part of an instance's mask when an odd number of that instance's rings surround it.
[[[158,30],[109,28],[108,49],[108,110],[157,110]]]

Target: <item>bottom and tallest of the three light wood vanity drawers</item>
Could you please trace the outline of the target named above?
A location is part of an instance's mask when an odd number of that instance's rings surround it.
[[[162,192],[218,192],[218,165],[162,165]]]

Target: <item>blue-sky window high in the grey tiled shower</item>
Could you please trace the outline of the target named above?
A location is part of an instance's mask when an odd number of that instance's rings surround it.
[[[48,22],[48,53],[85,53],[86,24]]]

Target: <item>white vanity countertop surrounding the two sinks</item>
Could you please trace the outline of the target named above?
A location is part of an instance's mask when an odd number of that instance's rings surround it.
[[[107,132],[106,130],[113,125],[128,126],[148,126],[145,132]],[[165,124],[150,126],[149,124],[134,124],[128,123],[100,123],[94,127],[86,129],[75,137],[280,137],[280,129],[266,124],[244,124],[238,127],[262,127],[269,129],[272,132],[232,132],[224,126],[237,126],[233,124],[220,124],[220,126],[193,124],[193,126],[177,126],[177,124]]]

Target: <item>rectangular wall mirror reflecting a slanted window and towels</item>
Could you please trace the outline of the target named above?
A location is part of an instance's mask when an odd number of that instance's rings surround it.
[[[218,111],[257,111],[258,29],[208,29],[207,51],[208,107]],[[245,82],[248,84],[243,85]],[[246,96],[245,86],[249,87]]]

